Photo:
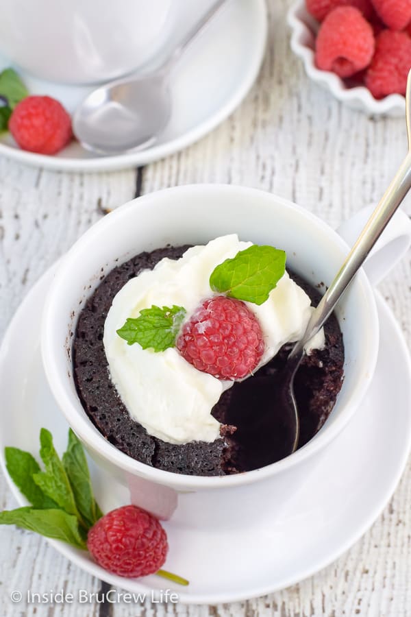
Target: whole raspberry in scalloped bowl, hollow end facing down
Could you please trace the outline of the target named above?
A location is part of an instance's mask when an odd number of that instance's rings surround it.
[[[352,6],[340,6],[327,15],[316,38],[316,66],[351,77],[371,62],[374,53],[371,25]]]

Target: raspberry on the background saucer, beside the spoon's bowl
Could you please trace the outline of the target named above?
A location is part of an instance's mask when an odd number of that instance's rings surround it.
[[[9,129],[23,150],[40,154],[55,154],[72,137],[69,114],[51,97],[32,96],[20,101],[10,117]]]

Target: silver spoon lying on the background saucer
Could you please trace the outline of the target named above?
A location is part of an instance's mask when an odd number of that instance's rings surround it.
[[[171,116],[171,70],[226,1],[216,0],[155,71],[105,84],[84,99],[73,115],[73,132],[86,149],[121,154],[157,141]]]

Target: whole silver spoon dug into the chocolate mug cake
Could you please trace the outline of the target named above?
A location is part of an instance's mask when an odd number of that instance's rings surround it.
[[[305,353],[304,347],[331,315],[338,300],[356,276],[358,269],[411,188],[411,71],[407,82],[406,122],[408,154],[340,271],[316,309],[312,311],[306,332],[302,339],[295,343],[286,365],[271,376],[259,377],[257,373],[252,380],[246,379],[232,388],[227,423],[238,426],[236,441],[240,445],[242,452],[240,456],[244,457],[247,468],[263,467],[290,455],[297,449],[300,423],[294,394],[294,378]],[[269,413],[259,415],[258,411],[266,409],[267,401],[270,400],[275,402],[273,409],[269,409]]]

